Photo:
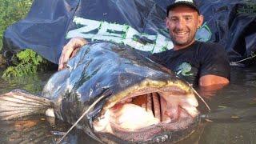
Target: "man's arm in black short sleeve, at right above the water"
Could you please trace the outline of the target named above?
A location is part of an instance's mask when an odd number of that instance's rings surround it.
[[[200,55],[202,57],[198,85],[227,85],[230,82],[230,62],[224,47],[217,43],[204,43]]]

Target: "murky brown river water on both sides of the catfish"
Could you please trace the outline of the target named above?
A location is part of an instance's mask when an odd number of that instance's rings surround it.
[[[0,78],[0,94],[14,89],[40,94],[54,72],[30,78]],[[189,138],[179,143],[256,143],[256,66],[232,67],[229,86],[205,98],[210,113],[202,114],[202,124]],[[45,116],[0,122],[0,143],[55,143],[70,125]],[[82,130],[73,130],[64,143],[98,143]]]

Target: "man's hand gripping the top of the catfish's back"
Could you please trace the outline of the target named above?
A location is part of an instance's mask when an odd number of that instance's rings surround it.
[[[73,57],[80,47],[86,45],[88,42],[85,38],[71,38],[70,42],[68,42],[62,50],[61,57],[58,61],[58,70],[62,70],[66,66],[66,62]]]

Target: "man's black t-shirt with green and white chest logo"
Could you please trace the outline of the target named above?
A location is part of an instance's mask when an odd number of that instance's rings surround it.
[[[213,42],[194,42],[182,50],[166,50],[150,58],[198,85],[200,77],[213,74],[230,79],[230,62],[224,47]]]

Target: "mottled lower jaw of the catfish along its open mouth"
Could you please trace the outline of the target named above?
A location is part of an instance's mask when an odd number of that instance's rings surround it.
[[[182,131],[178,134],[178,137],[183,137],[183,134],[186,136],[187,133],[193,133],[193,129],[198,124],[198,116],[192,118],[190,115],[182,114],[183,116],[178,118],[175,122],[159,122],[158,124],[154,124],[151,126],[147,126],[138,130],[130,131],[127,129],[122,129],[115,124],[110,124],[112,128],[112,132],[99,132],[99,134],[105,135],[113,134],[117,138],[121,138],[122,140],[129,142],[165,142],[167,139],[170,139],[174,136],[174,132]],[[186,132],[183,132],[186,131]],[[161,139],[158,139],[158,138]],[[164,139],[163,139],[164,138]],[[174,138],[175,139],[175,138]],[[179,138],[176,138],[179,139]],[[170,141],[173,141],[170,139]]]

